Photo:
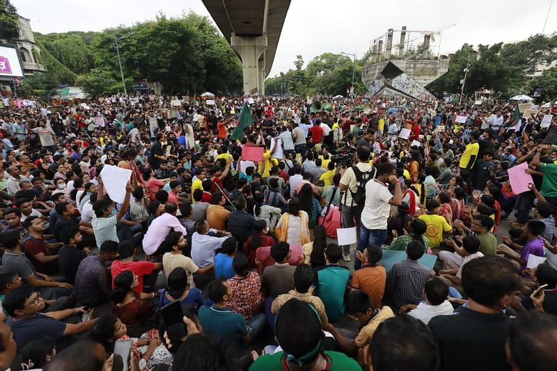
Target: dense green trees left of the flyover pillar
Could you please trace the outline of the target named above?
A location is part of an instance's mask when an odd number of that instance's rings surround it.
[[[242,88],[242,65],[207,17],[196,13],[102,32],[36,34],[48,73],[58,84],[84,84],[92,95],[122,92],[115,38],[126,86],[158,81],[165,93],[233,93]]]

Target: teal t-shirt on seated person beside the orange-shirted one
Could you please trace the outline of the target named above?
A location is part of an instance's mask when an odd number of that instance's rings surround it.
[[[327,265],[317,271],[316,297],[325,306],[329,322],[337,322],[345,312],[344,292],[350,281],[350,269],[338,265]]]

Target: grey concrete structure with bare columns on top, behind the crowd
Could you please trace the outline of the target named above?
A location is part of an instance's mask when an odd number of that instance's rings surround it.
[[[400,41],[393,45],[396,34],[400,34]],[[411,38],[412,34],[420,36]],[[432,53],[436,35],[440,38],[441,30],[413,31],[403,26],[400,30],[389,29],[372,40],[372,63],[363,68],[361,75],[370,95],[418,100],[433,98],[425,86],[448,71],[448,57]],[[417,45],[416,40],[419,40]]]

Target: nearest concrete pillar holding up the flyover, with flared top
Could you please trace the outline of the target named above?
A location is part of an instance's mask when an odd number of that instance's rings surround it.
[[[251,94],[251,90],[258,88],[260,94],[265,90],[262,84],[265,61],[259,58],[267,49],[267,35],[261,36],[236,36],[230,37],[230,45],[242,59],[242,71],[244,74],[244,93]],[[262,64],[260,68],[259,65]]]

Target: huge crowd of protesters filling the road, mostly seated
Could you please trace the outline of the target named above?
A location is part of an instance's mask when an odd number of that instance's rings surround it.
[[[0,370],[554,370],[556,106],[329,102],[3,102]]]

